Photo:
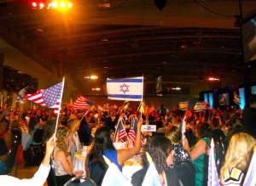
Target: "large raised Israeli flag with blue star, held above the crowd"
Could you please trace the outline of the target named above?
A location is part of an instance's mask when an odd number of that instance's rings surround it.
[[[108,99],[140,101],[143,99],[143,76],[107,79]]]

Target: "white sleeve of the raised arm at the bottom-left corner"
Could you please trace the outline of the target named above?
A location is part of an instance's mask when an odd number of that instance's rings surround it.
[[[33,178],[30,179],[19,179],[7,175],[0,176],[0,183],[1,185],[8,185],[8,186],[40,186],[44,185],[46,178],[49,174],[50,166],[44,166],[41,164],[39,166],[38,171],[35,173]]]

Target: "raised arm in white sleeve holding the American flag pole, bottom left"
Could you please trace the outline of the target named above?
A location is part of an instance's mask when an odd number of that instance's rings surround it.
[[[0,183],[1,185],[9,185],[9,186],[40,186],[44,185],[48,174],[49,174],[49,161],[50,161],[50,156],[55,149],[55,140],[54,140],[54,135],[49,138],[49,140],[46,143],[46,151],[44,155],[44,159],[41,163],[41,165],[38,168],[38,171],[34,174],[33,178],[30,179],[19,179],[15,177],[11,177],[8,175],[3,175],[0,176]]]

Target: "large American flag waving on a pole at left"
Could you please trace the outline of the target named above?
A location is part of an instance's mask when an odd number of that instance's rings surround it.
[[[62,82],[47,89],[38,90],[37,93],[26,94],[25,99],[54,109],[55,116],[60,112]]]

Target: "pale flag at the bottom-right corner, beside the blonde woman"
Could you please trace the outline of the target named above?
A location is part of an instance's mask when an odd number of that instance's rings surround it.
[[[253,149],[253,157],[247,171],[246,178],[244,179],[243,186],[256,185],[256,147]]]

